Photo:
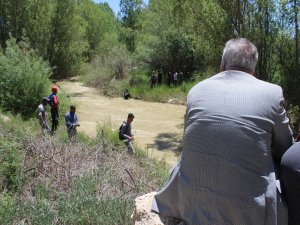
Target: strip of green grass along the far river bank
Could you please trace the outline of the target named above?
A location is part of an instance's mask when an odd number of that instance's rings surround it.
[[[109,71],[101,66],[89,65],[80,80],[86,85],[102,90],[108,96],[122,96],[123,91],[128,89],[131,96],[136,99],[151,102],[168,102],[170,99],[175,99],[176,103],[184,104],[189,90],[205,77],[203,74],[197,74],[196,80],[183,82],[177,87],[168,87],[166,84],[162,84],[150,88],[149,74],[151,72],[147,69],[134,69],[129,76],[122,80],[116,80],[108,73]]]

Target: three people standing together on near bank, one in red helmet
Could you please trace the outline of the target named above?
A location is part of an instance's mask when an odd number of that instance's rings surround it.
[[[58,113],[59,102],[57,97],[57,86],[53,85],[51,91],[52,93],[48,97],[43,97],[41,104],[38,106],[36,110],[36,116],[39,120],[42,129],[53,134],[58,127],[58,119],[59,119],[59,113]],[[48,124],[48,117],[46,114],[47,105],[50,106],[51,119],[52,119],[51,128]],[[71,141],[75,141],[76,132],[77,132],[76,128],[80,126],[76,115],[76,106],[74,105],[70,106],[70,111],[67,112],[65,115],[65,123],[67,126],[69,139]]]

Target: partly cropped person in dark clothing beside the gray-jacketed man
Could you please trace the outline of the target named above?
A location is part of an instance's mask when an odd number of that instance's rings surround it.
[[[282,191],[288,205],[288,225],[300,224],[300,143],[296,142],[283,155],[280,164]]]

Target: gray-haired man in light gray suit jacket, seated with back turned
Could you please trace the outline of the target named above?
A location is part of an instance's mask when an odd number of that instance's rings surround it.
[[[292,145],[282,89],[254,76],[256,47],[229,40],[221,71],[187,97],[181,159],[152,210],[193,225],[286,225],[275,171]]]

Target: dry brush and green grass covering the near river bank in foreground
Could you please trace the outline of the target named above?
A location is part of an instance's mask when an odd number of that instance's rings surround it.
[[[79,133],[72,144],[63,121],[50,136],[36,119],[9,117],[0,120],[1,149],[15,149],[0,152],[1,225],[131,224],[134,199],[158,190],[168,177],[166,165],[141,148],[128,155],[109,121],[98,125],[104,142],[101,135]],[[5,170],[10,167],[17,169]],[[17,188],[8,188],[8,181]]]

